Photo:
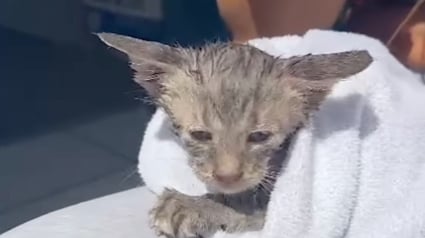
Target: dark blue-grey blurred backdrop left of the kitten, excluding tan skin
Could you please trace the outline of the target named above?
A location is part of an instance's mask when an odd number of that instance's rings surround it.
[[[90,32],[226,40],[215,1],[0,1],[0,233],[132,188],[153,108]]]

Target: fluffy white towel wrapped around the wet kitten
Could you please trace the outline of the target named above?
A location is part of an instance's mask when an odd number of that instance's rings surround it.
[[[366,49],[374,62],[338,83],[293,141],[262,231],[218,237],[425,237],[425,87],[375,39],[311,30],[249,44],[288,57]],[[206,192],[171,132],[153,116],[139,169],[155,193]]]

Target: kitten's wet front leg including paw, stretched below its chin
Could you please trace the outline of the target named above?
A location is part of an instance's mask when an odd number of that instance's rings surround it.
[[[166,190],[150,212],[158,234],[174,238],[208,237],[218,230],[229,233],[259,230],[264,215],[245,215],[206,197]]]

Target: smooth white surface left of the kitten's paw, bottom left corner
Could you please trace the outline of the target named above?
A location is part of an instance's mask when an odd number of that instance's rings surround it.
[[[146,187],[98,198],[52,212],[1,238],[154,238],[147,212],[155,196]]]

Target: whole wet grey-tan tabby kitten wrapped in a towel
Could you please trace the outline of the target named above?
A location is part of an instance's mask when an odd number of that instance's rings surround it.
[[[366,51],[281,59],[234,43],[193,49],[99,37],[129,57],[135,81],[168,114],[194,173],[213,191],[159,197],[152,226],[176,238],[260,230],[288,138],[339,79],[372,62]]]

